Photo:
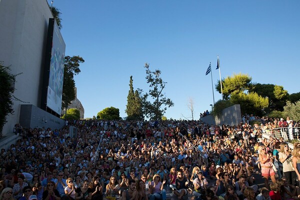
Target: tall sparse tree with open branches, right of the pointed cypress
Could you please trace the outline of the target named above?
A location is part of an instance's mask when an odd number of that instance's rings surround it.
[[[148,63],[145,63],[144,67],[146,68],[145,78],[150,89],[144,94],[139,89],[142,112],[151,120],[160,120],[167,107],[173,106],[174,103],[162,92],[167,82],[163,81],[160,77],[161,71],[159,69],[151,71]]]

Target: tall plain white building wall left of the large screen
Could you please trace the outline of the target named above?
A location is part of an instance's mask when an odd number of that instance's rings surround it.
[[[0,61],[17,74],[14,96],[40,107],[41,78],[48,29],[52,18],[47,0],[0,1]],[[13,102],[3,135],[12,131],[20,116],[20,104]]]

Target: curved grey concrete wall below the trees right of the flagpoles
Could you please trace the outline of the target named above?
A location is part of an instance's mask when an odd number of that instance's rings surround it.
[[[202,117],[201,120],[208,124],[217,124],[220,126],[222,124],[236,125],[241,122],[240,105],[235,104],[225,108],[220,117],[214,117],[209,114],[208,116]]]

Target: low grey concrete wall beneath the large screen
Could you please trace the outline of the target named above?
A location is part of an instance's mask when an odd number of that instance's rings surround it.
[[[64,125],[60,119],[34,105],[21,105],[19,123],[22,127],[51,127],[52,130]]]

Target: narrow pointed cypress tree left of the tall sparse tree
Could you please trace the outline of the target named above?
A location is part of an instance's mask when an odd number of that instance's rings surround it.
[[[125,112],[127,113],[127,120],[142,119],[141,102],[138,91],[133,91],[132,75],[129,80],[129,91],[127,95],[127,105]]]

